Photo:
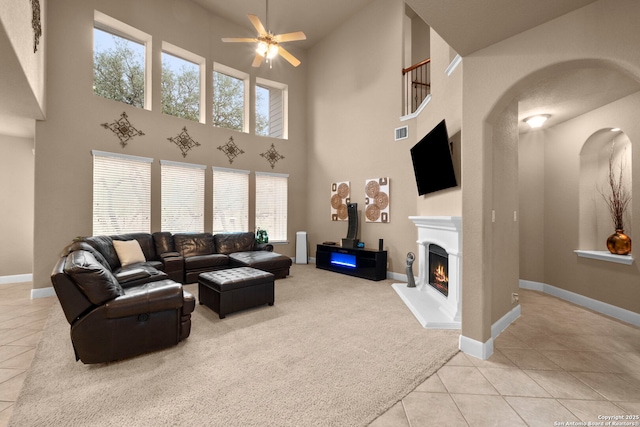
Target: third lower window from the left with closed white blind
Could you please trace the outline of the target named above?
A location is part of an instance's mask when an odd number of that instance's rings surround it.
[[[213,167],[213,233],[249,231],[249,171]]]

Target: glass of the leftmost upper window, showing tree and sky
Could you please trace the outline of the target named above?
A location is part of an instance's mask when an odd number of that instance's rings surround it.
[[[145,46],[94,28],[93,92],[144,108]]]

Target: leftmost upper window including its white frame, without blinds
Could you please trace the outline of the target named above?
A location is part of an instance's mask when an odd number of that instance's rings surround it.
[[[151,109],[151,36],[95,11],[93,93]]]

